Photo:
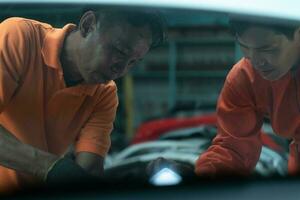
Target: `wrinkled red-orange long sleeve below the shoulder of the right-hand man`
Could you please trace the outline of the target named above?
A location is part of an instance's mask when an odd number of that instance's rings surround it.
[[[197,175],[247,175],[255,168],[262,148],[263,115],[255,109],[248,89],[225,81],[217,105],[218,134],[196,161]]]

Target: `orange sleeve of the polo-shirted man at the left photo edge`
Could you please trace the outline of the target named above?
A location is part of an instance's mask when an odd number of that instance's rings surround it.
[[[0,113],[10,102],[28,65],[30,27],[10,18],[0,24]]]

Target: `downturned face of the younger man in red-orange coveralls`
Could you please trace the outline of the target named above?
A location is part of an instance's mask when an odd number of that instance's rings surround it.
[[[237,36],[244,56],[267,80],[278,80],[299,60],[296,40],[267,28],[251,27]]]

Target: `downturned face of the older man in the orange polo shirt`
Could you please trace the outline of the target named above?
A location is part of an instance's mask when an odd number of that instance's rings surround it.
[[[149,51],[151,31],[129,23],[113,23],[89,33],[80,48],[79,73],[87,84],[117,79]]]

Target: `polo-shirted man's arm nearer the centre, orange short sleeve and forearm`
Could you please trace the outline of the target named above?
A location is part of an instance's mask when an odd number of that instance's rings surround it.
[[[118,106],[117,87],[113,81],[102,85],[100,90],[94,112],[75,144],[76,162],[96,176],[103,172],[103,160],[110,148],[110,133]]]

